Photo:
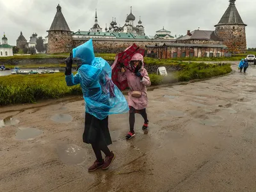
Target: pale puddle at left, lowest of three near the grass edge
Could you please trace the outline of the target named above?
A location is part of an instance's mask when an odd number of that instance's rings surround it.
[[[33,140],[36,136],[39,136],[42,134],[43,131],[35,128],[25,128],[25,127],[19,127],[15,139],[16,140]]]

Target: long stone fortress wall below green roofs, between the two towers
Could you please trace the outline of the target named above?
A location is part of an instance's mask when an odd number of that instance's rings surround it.
[[[76,38],[73,42],[73,47],[84,44],[89,39],[79,40]],[[145,49],[146,45],[159,45],[164,43],[172,43],[174,40],[148,40],[148,39],[93,39],[93,47],[95,52],[122,52],[132,44],[136,44],[142,49]]]

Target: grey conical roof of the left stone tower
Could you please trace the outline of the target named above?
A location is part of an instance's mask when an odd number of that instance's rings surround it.
[[[51,28],[48,31],[70,31],[65,17],[61,12],[60,4],[57,6],[57,13],[52,21]]]

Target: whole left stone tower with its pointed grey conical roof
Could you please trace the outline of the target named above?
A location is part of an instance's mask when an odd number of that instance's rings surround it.
[[[61,6],[58,4],[57,13],[52,21],[48,32],[47,53],[70,52],[72,49],[72,31],[61,12]]]

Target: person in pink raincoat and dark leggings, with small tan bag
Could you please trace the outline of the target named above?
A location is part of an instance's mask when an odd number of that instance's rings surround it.
[[[130,131],[126,135],[127,140],[135,136],[135,113],[140,113],[140,115],[144,118],[144,125],[142,129],[145,130],[148,128],[148,118],[146,113],[148,97],[146,86],[150,86],[151,84],[148,72],[144,68],[143,56],[141,54],[134,54],[129,65],[132,71],[125,70],[125,68],[121,66],[121,72],[118,74],[118,82],[122,83],[122,81],[127,80],[128,86],[130,88],[128,97],[128,105],[130,108]],[[137,91],[137,94],[134,95],[134,91]]]

